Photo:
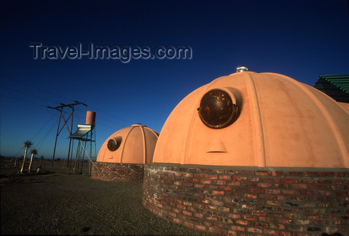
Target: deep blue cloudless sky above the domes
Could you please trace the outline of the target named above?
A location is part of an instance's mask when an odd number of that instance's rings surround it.
[[[5,156],[24,155],[23,141],[31,139],[38,156],[52,158],[59,113],[46,106],[87,104],[76,106],[74,131],[86,111],[95,111],[98,153],[112,133],[131,124],[160,132],[180,100],[241,64],[310,86],[319,75],[349,74],[347,0],[0,2]],[[192,58],[33,59],[31,42],[62,48],[81,43],[83,50],[91,42],[153,51],[189,46]],[[66,158],[67,137],[64,128],[56,158]]]

